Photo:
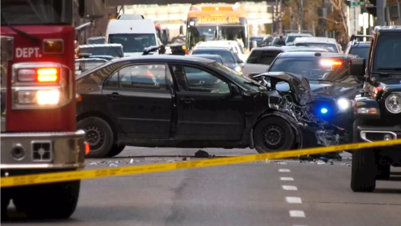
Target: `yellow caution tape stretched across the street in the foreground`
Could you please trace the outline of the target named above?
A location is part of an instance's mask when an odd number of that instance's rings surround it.
[[[98,170],[69,171],[47,174],[31,174],[28,176],[13,176],[0,178],[0,187],[25,186],[32,184],[45,184],[53,182],[65,182],[72,180],[82,180],[90,178],[103,178],[113,176],[126,176],[132,174],[144,174],[153,172],[165,172],[172,170],[182,170],[190,168],[210,167],[217,165],[229,165],[236,163],[245,163],[251,161],[261,161],[267,159],[282,159],[288,157],[297,157],[300,155],[314,155],[333,151],[346,151],[352,149],[363,149],[369,147],[382,147],[401,144],[401,139],[390,141],[375,141],[372,143],[350,143],[330,147],[314,147],[300,150],[279,151],[255,155],[242,155],[236,157],[221,157],[213,159],[201,159],[194,161],[182,161],[174,163],[156,163],[150,165],[135,165],[126,167],[113,167]],[[1,168],[1,165],[0,165]]]

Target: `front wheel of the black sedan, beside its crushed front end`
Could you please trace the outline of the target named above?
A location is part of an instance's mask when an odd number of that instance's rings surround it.
[[[294,140],[290,124],[277,116],[261,119],[253,130],[253,142],[259,153],[289,150],[293,147]]]

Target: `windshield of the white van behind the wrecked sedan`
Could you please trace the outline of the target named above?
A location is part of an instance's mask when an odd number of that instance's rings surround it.
[[[156,46],[156,35],[110,34],[109,43],[122,44],[124,52],[143,52],[146,47]]]

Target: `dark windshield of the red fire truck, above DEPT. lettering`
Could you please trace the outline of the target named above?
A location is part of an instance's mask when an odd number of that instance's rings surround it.
[[[73,0],[0,0],[0,5],[0,26],[73,22]]]

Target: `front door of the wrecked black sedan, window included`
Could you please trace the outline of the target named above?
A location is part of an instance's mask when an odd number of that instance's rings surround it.
[[[176,139],[241,139],[245,125],[243,99],[231,94],[230,81],[205,67],[171,66],[179,88]]]

